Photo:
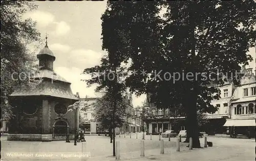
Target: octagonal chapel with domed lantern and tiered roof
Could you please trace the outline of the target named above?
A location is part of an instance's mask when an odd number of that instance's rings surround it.
[[[68,81],[53,70],[55,56],[47,44],[37,55],[40,79],[35,88],[17,89],[10,96],[15,119],[10,122],[8,140],[65,140],[78,128],[78,111],[68,106],[78,101]]]

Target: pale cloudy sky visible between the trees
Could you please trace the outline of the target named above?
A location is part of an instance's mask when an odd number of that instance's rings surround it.
[[[35,4],[38,9],[28,12],[25,18],[37,22],[36,28],[43,40],[47,32],[48,46],[56,57],[55,72],[72,83],[74,94],[79,92],[80,97],[98,97],[94,92],[96,85],[88,88],[86,82],[80,80],[90,78],[81,75],[83,69],[99,65],[105,54],[101,48],[100,17],[106,9],[106,1],[36,1]],[[35,54],[39,50],[35,50]],[[255,68],[255,47],[248,53],[254,60],[247,67]],[[142,105],[145,98],[145,95],[133,95],[133,105]]]

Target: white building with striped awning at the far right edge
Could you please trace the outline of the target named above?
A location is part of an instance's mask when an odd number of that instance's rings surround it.
[[[242,73],[245,76],[241,79],[241,86],[234,90],[231,99],[231,118],[224,126],[229,127],[233,138],[252,138],[255,137],[256,81],[252,68],[243,66]]]

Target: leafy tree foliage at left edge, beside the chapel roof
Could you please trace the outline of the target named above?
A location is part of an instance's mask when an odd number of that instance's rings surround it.
[[[8,95],[16,88],[33,88],[40,83],[29,76],[37,72],[35,53],[28,50],[28,44],[38,43],[40,33],[31,19],[23,15],[36,9],[30,1],[1,2],[1,119],[10,120],[15,107],[8,103]],[[20,75],[20,77],[18,77]]]

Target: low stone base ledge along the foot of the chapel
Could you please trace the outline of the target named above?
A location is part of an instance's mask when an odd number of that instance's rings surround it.
[[[9,134],[7,136],[9,141],[52,141],[52,135],[41,135],[41,134]]]

